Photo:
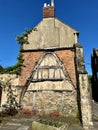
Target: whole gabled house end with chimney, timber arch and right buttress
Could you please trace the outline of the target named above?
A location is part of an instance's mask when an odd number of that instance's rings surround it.
[[[44,4],[43,19],[24,36],[19,102],[23,109],[81,118],[90,129],[92,102],[79,33],[55,18],[54,2]]]

